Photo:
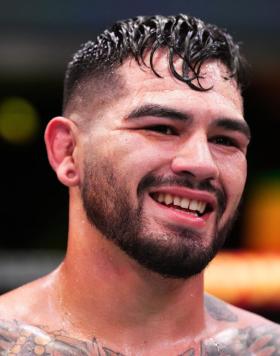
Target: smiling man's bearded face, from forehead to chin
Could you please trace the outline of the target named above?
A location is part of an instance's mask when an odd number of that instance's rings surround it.
[[[201,272],[224,242],[246,179],[247,125],[225,68],[202,67],[207,92],[127,61],[125,87],[90,124],[81,183],[95,228],[163,276]]]

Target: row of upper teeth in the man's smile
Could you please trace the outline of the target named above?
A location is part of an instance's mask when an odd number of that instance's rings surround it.
[[[207,203],[203,201],[181,198],[177,195],[171,195],[165,193],[155,194],[155,199],[159,203],[165,203],[166,205],[173,204],[183,209],[198,211],[200,214],[204,213],[207,205]]]

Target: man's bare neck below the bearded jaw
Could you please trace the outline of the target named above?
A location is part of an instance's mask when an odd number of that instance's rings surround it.
[[[83,215],[81,207],[70,209],[68,250],[57,274],[69,333],[115,345],[129,340],[134,348],[137,340],[162,344],[200,335],[202,274],[179,280],[147,271],[101,236]]]

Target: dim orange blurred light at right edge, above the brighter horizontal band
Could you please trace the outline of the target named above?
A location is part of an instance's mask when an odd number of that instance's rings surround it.
[[[257,185],[245,216],[245,246],[280,251],[280,179]]]

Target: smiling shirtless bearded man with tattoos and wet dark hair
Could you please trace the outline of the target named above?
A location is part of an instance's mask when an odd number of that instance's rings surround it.
[[[245,63],[191,16],[122,21],[74,55],[51,166],[56,271],[1,297],[6,355],[279,355],[279,327],[203,293],[246,180]]]

